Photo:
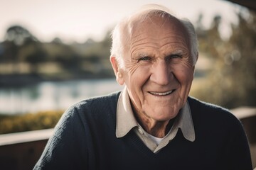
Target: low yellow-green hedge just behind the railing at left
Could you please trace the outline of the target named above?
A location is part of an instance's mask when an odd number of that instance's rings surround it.
[[[1,115],[0,134],[54,128],[63,111],[43,111],[24,115]]]

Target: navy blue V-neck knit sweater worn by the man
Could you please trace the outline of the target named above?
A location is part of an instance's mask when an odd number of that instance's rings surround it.
[[[132,130],[116,137],[118,96],[69,108],[34,169],[252,169],[242,125],[225,109],[188,97],[196,140],[186,140],[179,130],[154,154]]]

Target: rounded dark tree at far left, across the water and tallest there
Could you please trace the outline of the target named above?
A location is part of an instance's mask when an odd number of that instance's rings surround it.
[[[20,72],[19,62],[27,62],[30,64],[31,72],[35,74],[38,64],[46,60],[46,52],[41,42],[22,26],[8,28],[4,38],[4,61],[11,62],[14,73]]]

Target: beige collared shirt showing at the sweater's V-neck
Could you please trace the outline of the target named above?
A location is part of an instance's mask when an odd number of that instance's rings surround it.
[[[174,121],[174,125],[169,133],[161,140],[159,145],[157,145],[156,142],[149,137],[149,134],[139,125],[139,123],[137,123],[129,101],[127,87],[124,87],[124,90],[121,92],[117,101],[116,135],[117,137],[124,137],[130,130],[134,130],[146,147],[154,153],[159,152],[160,149],[164,148],[171,140],[174,139],[178,132],[178,128],[181,129],[186,140],[193,142],[196,139],[196,135],[193,128],[193,120],[188,101],[185,106],[181,108],[181,111],[177,116],[178,117]]]

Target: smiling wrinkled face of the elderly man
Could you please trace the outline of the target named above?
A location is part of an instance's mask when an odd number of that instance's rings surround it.
[[[151,17],[132,30],[119,84],[126,84],[137,114],[170,120],[186,103],[194,67],[181,23]]]

